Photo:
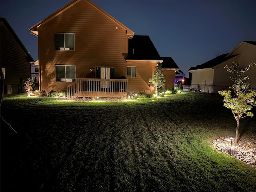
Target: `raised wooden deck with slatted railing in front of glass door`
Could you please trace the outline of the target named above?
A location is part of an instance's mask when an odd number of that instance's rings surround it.
[[[68,85],[68,98],[125,98],[127,96],[127,84],[127,79],[76,78],[76,81]]]

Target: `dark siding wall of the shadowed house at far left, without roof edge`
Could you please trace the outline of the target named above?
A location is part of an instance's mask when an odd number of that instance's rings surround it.
[[[30,62],[27,61],[26,54],[14,38],[13,34],[1,22],[1,68],[5,68],[5,85],[12,86],[12,93],[17,93],[18,84],[22,80],[31,78]]]

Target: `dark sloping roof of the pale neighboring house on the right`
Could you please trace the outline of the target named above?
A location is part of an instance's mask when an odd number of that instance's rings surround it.
[[[206,69],[206,68],[213,68],[215,67],[216,65],[218,64],[221,64],[231,58],[233,58],[234,56],[237,56],[236,55],[231,55],[231,56],[227,56],[228,54],[223,54],[223,55],[220,55],[208,62],[205,62],[201,65],[197,65],[196,67],[191,67],[188,71],[191,71],[191,70],[196,70],[196,69]]]

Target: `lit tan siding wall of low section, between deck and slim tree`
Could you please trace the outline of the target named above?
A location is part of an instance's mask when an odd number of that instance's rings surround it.
[[[149,86],[149,80],[154,75],[156,63],[157,62],[127,60],[126,66],[136,67],[136,78],[126,77],[126,79],[128,79],[128,94],[136,92],[146,94],[154,93],[155,88]]]

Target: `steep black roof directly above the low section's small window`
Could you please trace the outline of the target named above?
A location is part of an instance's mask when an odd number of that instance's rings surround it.
[[[126,60],[162,60],[154,44],[147,35],[134,35],[128,42]]]

